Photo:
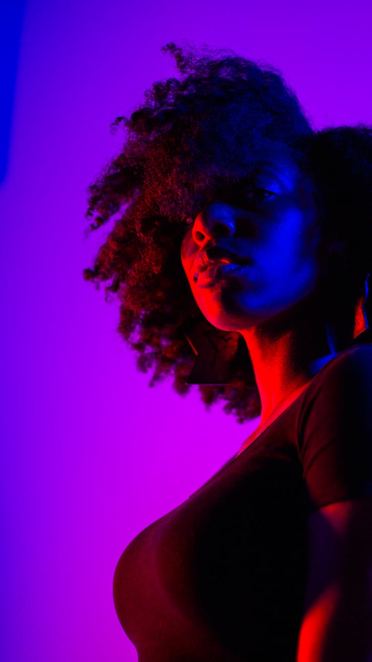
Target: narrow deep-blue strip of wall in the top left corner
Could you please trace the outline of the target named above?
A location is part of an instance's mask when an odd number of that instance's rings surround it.
[[[25,5],[26,0],[0,1],[0,185],[7,174]]]

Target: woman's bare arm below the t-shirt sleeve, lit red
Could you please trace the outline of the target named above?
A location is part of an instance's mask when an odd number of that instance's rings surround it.
[[[297,662],[372,661],[372,498],[315,510]]]

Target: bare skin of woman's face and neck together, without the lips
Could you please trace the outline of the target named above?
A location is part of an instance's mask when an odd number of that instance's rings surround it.
[[[258,433],[336,353],[324,293],[328,256],[340,244],[322,232],[313,183],[291,150],[265,139],[255,157],[243,195],[217,193],[190,219],[181,260],[205,318],[246,341],[262,403]],[[194,260],[215,245],[249,262],[203,284],[200,275],[194,279]]]

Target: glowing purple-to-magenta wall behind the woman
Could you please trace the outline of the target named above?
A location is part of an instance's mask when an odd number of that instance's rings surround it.
[[[161,46],[186,38],[277,66],[317,128],[372,123],[372,8],[29,0],[21,14],[9,13],[4,30],[15,85],[13,99],[8,71],[1,658],[133,662],[112,600],[122,551],[258,421],[206,412],[198,387],[184,399],[170,381],[150,389],[116,331],[118,304],[83,281],[108,232],[84,238],[87,187],[120,149],[110,122],[174,74]]]

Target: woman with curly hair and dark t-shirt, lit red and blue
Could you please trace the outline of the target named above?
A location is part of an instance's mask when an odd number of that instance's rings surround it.
[[[367,662],[372,133],[315,134],[273,68],[166,50],[180,79],[91,187],[91,227],[120,218],[85,277],[151,385],[261,419],[126,548],[116,610],[140,662]]]

